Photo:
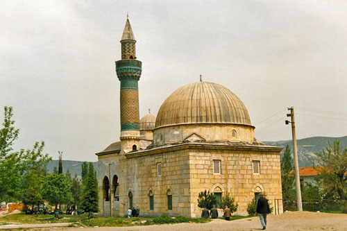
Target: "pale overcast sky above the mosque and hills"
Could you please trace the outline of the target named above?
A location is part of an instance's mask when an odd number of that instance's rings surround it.
[[[347,135],[347,1],[0,1],[0,120],[15,149],[96,161],[119,141],[115,60],[129,14],[140,117],[199,75],[241,99],[261,141]]]

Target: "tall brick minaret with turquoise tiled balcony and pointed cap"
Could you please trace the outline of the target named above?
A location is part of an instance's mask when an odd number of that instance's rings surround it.
[[[135,37],[126,19],[121,36],[121,60],[116,61],[116,72],[121,81],[121,150],[139,149],[139,77],[142,62],[136,60]]]

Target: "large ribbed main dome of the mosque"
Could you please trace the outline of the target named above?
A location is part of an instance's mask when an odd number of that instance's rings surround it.
[[[162,103],[155,128],[191,123],[251,126],[251,119],[244,103],[228,88],[200,81],[178,88]]]

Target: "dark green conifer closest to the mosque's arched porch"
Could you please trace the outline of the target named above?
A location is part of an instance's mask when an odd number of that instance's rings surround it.
[[[94,172],[93,163],[89,163],[88,175],[83,184],[83,200],[81,203],[82,209],[88,213],[88,219],[91,212],[99,211],[99,194],[98,194],[98,180]]]

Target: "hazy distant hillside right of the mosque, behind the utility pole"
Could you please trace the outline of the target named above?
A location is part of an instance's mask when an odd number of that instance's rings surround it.
[[[328,146],[328,142],[333,143],[335,140],[340,141],[340,146],[347,147],[346,137],[309,137],[305,139],[297,139],[296,145],[298,146],[298,162],[300,167],[316,165],[319,153],[323,148]],[[291,140],[279,142],[263,142],[266,145],[284,147],[280,153],[281,157],[284,154],[285,147],[289,144],[291,152],[293,152],[293,142]]]

